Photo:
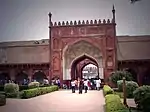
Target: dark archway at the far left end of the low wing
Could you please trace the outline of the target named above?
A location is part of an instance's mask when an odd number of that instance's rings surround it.
[[[6,72],[0,73],[0,85],[4,85],[5,83],[8,83],[10,80],[10,76]]]

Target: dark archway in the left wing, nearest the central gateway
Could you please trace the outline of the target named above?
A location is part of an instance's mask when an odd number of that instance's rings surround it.
[[[32,80],[36,80],[40,83],[43,83],[44,79],[47,79],[47,77],[43,71],[36,71],[32,77]]]

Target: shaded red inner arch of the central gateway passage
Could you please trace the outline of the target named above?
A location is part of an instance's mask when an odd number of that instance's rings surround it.
[[[77,79],[78,77],[83,78],[82,69],[85,65],[87,65],[86,60],[90,60],[98,67],[96,60],[87,55],[83,55],[73,61],[71,66],[71,79]]]

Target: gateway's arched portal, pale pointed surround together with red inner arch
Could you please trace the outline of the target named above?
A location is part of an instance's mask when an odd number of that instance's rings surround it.
[[[77,75],[81,73],[77,70],[77,66],[86,59],[95,63],[98,66],[98,70],[103,68],[102,52],[92,43],[80,40],[73,45],[67,46],[63,51],[63,80],[81,77],[81,75]]]

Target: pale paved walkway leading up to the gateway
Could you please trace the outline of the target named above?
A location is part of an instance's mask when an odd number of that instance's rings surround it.
[[[102,91],[61,90],[31,99],[7,99],[0,112],[104,112],[104,102]]]

